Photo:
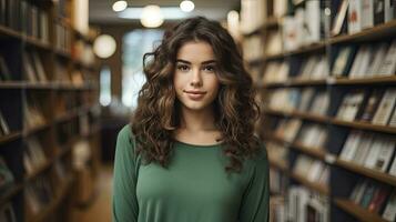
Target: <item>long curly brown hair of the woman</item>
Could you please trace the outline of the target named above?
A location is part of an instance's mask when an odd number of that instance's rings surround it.
[[[180,127],[180,101],[173,87],[176,54],[187,41],[205,41],[216,59],[220,81],[214,100],[215,125],[222,132],[217,141],[230,159],[227,172],[240,172],[243,161],[258,151],[254,123],[260,119],[253,80],[244,68],[242,56],[230,33],[216,21],[203,17],[186,19],[165,31],[160,46],[143,57],[146,82],[139,91],[138,108],[132,115],[136,152],[144,162],[166,168]]]

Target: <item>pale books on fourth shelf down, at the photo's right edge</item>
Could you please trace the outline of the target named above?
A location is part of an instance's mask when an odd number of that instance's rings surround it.
[[[396,176],[396,140],[389,135],[352,131],[339,159]]]

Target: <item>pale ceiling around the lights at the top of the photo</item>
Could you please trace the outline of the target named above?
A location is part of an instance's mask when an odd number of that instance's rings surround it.
[[[90,22],[91,23],[130,23],[129,19],[121,19],[112,10],[115,0],[91,0]],[[160,7],[179,7],[182,0],[126,0],[129,7],[144,7],[146,4],[158,4]],[[230,10],[238,9],[241,0],[193,0],[195,9],[191,16],[204,16],[209,19],[224,20]]]

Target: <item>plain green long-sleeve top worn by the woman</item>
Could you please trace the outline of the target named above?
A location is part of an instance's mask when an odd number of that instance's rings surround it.
[[[226,173],[222,144],[176,141],[167,169],[141,164],[129,125],[118,137],[113,180],[115,222],[267,222],[268,161],[245,160],[241,173]]]

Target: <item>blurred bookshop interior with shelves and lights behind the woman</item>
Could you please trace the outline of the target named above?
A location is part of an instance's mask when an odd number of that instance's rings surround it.
[[[0,0],[0,222],[111,221],[142,57],[195,16],[254,80],[271,221],[395,221],[396,0]]]

